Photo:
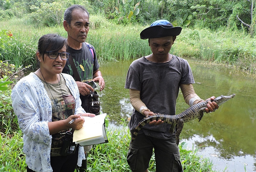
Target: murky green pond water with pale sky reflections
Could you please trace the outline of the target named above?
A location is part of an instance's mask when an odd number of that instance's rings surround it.
[[[181,142],[187,149],[200,146],[198,154],[208,157],[216,171],[256,171],[256,79],[232,68],[188,60],[193,71],[196,93],[203,99],[236,94],[212,113],[204,114],[200,122],[185,123]],[[124,89],[127,70],[132,61],[101,64],[106,82],[100,92],[101,110],[110,115],[114,126],[127,122],[132,114],[129,90]],[[180,92],[177,114],[189,106]]]

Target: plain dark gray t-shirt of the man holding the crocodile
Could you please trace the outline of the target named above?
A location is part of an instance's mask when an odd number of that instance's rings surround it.
[[[167,115],[175,115],[176,99],[180,84],[195,83],[188,61],[172,55],[166,63],[148,61],[144,56],[132,62],[128,69],[124,88],[140,91],[140,99],[150,111]],[[131,133],[144,118],[133,109],[129,128]],[[158,139],[172,137],[168,131],[170,124],[145,125],[139,133]]]

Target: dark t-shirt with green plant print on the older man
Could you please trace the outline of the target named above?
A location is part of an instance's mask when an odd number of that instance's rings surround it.
[[[92,58],[91,50],[85,43],[82,44],[82,48],[80,50],[75,50],[69,46],[67,47],[67,52],[71,54],[82,82],[92,81],[93,72],[98,70],[100,67],[96,58],[95,49],[93,46],[92,48],[94,52],[94,58]],[[68,60],[65,67],[63,68],[62,73],[72,75],[76,80]]]

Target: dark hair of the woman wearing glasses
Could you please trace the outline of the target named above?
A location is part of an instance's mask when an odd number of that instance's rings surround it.
[[[59,51],[67,43],[67,39],[61,37],[59,34],[49,33],[41,36],[38,40],[37,51],[43,56],[45,51]],[[37,59],[37,58],[36,58]]]

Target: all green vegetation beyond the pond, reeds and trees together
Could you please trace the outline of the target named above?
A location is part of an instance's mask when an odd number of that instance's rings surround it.
[[[68,0],[65,3],[2,0],[0,60],[10,60],[16,67],[36,68],[34,56],[39,37],[49,32],[66,37],[63,13],[71,4],[81,4],[91,14],[87,41],[96,48],[100,61],[149,54],[150,49],[139,38],[139,32],[156,19],[167,19],[183,27],[172,53],[225,62],[255,73],[254,3],[254,0]]]

